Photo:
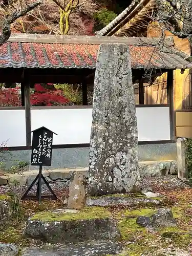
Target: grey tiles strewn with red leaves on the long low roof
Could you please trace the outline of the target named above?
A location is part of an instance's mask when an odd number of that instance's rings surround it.
[[[189,56],[172,47],[162,48],[161,51],[153,46],[129,45],[129,48],[133,69],[192,67],[192,63],[186,60]],[[85,43],[6,42],[0,47],[0,68],[95,69],[98,49],[98,44]]]

